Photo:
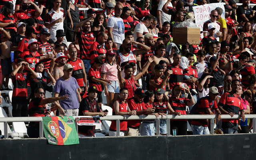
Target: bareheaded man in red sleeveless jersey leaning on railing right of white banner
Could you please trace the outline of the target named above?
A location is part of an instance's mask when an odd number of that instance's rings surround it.
[[[135,110],[130,110],[128,103],[126,101],[128,97],[128,89],[121,88],[118,100],[114,102],[113,105],[113,114],[112,115],[136,115]],[[127,130],[127,121],[120,122],[120,136],[124,136],[124,132]],[[116,136],[116,121],[112,120],[109,128],[109,136]]]

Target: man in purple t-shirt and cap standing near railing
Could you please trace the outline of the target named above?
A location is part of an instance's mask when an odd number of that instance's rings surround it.
[[[78,116],[79,103],[81,96],[78,91],[78,83],[72,77],[73,67],[71,64],[65,64],[63,67],[64,75],[56,81],[54,88],[54,97],[68,95],[67,100],[60,100],[59,114],[64,116]]]

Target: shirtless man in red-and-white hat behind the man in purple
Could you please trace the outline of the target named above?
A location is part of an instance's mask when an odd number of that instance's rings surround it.
[[[60,77],[63,76],[63,66],[66,64],[67,59],[68,57],[65,56],[64,53],[60,52],[57,54],[56,60],[54,60],[54,62],[58,65],[53,68],[53,77],[55,80],[58,80]]]

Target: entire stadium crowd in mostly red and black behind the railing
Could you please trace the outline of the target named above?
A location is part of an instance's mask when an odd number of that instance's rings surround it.
[[[12,116],[106,116],[106,95],[113,115],[217,114],[224,134],[248,133],[252,121],[244,114],[256,111],[256,7],[222,0],[225,10],[210,11],[200,44],[172,38],[174,27],[194,21],[193,6],[218,2],[2,0],[0,89],[10,90],[12,79]],[[78,8],[89,9],[84,15]],[[210,134],[207,120],[171,120],[170,129],[186,135],[187,123],[193,134]],[[30,137],[38,137],[38,126],[30,122]],[[120,130],[121,136],[155,135],[156,121],[121,121]],[[94,132],[95,126],[78,127],[80,136]],[[160,133],[167,134],[165,119]],[[109,135],[116,136],[116,121]]]

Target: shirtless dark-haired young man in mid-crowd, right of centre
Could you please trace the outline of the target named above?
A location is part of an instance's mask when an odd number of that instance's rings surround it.
[[[152,71],[152,75],[155,74],[155,70],[154,67],[156,66],[156,64],[158,64],[160,62],[160,60],[164,60],[166,62],[166,65],[169,66],[170,62],[167,58],[164,58],[164,54],[165,54],[165,49],[166,46],[164,44],[159,44],[158,48],[157,48],[157,55],[154,58],[154,61],[151,63],[151,71]]]

